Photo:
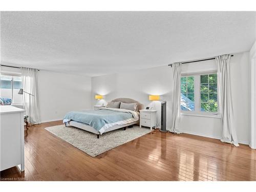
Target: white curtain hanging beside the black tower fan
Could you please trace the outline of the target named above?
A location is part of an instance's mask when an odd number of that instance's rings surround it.
[[[170,132],[181,133],[180,129],[180,78],[181,62],[175,62],[173,69],[173,125]]]

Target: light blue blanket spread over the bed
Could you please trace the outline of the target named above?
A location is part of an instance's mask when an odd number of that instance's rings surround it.
[[[110,109],[98,109],[94,111],[71,111],[63,118],[66,121],[77,121],[88,124],[99,131],[105,124],[115,123],[133,118],[133,113],[114,111]]]

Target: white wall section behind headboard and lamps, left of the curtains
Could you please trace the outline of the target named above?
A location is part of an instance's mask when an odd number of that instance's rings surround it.
[[[132,98],[141,102],[144,107],[152,106],[153,102],[148,100],[148,95],[161,95],[161,100],[167,101],[167,113],[170,113],[170,92],[172,87],[172,73],[170,67],[158,67],[145,70],[136,70],[131,73],[120,73],[104,75],[92,78],[92,99],[95,94],[103,95],[100,103],[111,101],[119,97]],[[154,101],[158,110],[158,121],[160,123],[160,101]],[[167,119],[167,125],[170,119]]]

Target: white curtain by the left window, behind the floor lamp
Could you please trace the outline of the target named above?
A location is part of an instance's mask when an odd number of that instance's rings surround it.
[[[22,83],[23,83],[23,102],[26,110],[26,115],[31,116],[29,119],[30,123],[38,124],[41,123],[40,119],[40,108],[38,101],[38,83],[37,83],[37,69],[30,69],[22,67]],[[30,96],[27,93],[31,93],[33,96]],[[29,110],[29,97],[31,99],[31,106]]]

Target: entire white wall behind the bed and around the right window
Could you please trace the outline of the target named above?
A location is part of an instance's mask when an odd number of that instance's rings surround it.
[[[231,57],[231,79],[234,121],[237,125],[240,143],[249,143],[250,129],[250,71],[249,53],[234,54]],[[182,65],[182,73],[217,70],[215,60],[194,62]],[[160,95],[167,101],[167,127],[172,117],[172,68],[168,66],[119,73],[92,78],[92,103],[97,103],[95,94],[104,95],[100,101],[107,102],[119,97],[128,97],[140,101],[144,106],[151,105],[148,95]],[[157,104],[158,123],[160,123],[160,102]],[[184,132],[213,138],[221,138],[222,126],[219,118],[185,116],[181,118]]]

